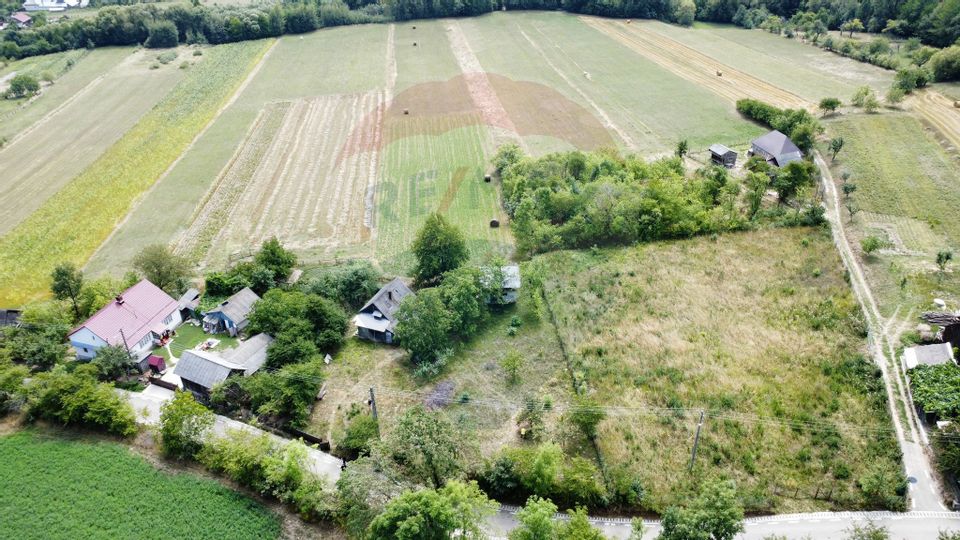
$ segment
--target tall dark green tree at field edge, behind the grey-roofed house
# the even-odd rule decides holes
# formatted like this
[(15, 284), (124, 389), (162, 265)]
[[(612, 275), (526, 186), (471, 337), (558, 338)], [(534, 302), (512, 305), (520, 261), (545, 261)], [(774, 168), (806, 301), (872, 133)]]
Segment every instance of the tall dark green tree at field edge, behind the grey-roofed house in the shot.
[(445, 272), (470, 258), (463, 233), (436, 212), (417, 232), (412, 249), (417, 258), (414, 277), (419, 285), (437, 283)]

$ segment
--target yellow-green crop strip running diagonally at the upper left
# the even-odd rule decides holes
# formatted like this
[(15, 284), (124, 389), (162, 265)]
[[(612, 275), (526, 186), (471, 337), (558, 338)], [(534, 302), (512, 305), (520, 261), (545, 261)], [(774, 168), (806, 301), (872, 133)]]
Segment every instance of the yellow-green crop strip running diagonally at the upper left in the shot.
[[(82, 265), (213, 118), (269, 41), (214, 47), (150, 113), (79, 177), (0, 239), (0, 303), (44, 294), (63, 261)], [(41, 277), (43, 276), (43, 277)]]

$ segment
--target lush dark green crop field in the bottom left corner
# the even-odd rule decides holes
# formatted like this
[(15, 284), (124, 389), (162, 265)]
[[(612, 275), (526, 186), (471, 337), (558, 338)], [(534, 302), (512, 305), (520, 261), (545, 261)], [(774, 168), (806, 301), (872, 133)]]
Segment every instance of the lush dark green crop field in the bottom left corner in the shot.
[(277, 538), (265, 507), (218, 482), (155, 469), (111, 442), (0, 437), (0, 536)]

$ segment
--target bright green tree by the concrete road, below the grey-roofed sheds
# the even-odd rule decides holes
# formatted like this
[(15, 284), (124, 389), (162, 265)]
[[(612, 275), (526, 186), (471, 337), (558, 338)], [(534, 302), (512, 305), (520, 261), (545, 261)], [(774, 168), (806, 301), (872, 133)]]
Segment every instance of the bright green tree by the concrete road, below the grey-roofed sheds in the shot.
[(178, 391), (160, 406), (160, 447), (167, 456), (192, 458), (203, 448), (203, 435), (213, 426), (213, 413), (193, 399), (190, 392)]

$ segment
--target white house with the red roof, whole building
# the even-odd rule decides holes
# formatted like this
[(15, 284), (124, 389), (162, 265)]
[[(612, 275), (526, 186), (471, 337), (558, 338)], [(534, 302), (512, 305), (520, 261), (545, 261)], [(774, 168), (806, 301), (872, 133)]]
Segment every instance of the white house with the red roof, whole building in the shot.
[(177, 301), (147, 280), (123, 291), (70, 332), (77, 358), (89, 360), (107, 345), (125, 347), (141, 371), (153, 347), (183, 320)]

